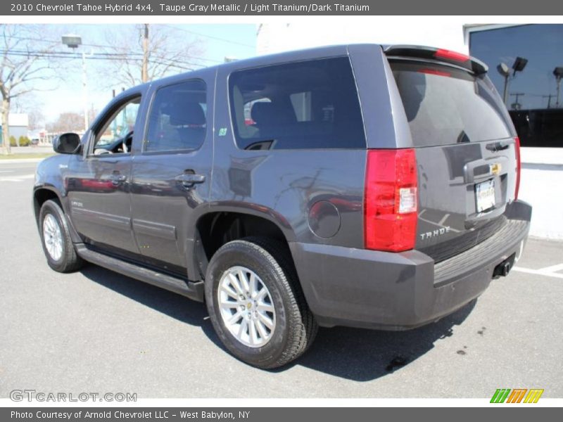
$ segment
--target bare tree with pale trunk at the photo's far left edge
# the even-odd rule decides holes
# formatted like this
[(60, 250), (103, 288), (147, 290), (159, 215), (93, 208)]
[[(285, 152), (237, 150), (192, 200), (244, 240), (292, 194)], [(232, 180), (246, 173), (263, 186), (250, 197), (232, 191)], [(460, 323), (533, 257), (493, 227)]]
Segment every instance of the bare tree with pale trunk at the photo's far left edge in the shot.
[(35, 25), (0, 25), (0, 93), (2, 95), (3, 153), (10, 154), (8, 116), (12, 101), (37, 89), (34, 84), (53, 75), (51, 58), (56, 44), (42, 43), (44, 30)]

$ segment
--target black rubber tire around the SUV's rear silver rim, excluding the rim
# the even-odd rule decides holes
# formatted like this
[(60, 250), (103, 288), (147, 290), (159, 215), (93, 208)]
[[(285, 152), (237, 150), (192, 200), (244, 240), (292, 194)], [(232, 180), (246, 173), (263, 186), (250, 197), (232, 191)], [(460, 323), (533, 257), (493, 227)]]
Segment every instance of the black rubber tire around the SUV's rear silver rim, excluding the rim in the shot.
[[(248, 347), (225, 326), (217, 289), (227, 269), (242, 266), (257, 274), (269, 290), (275, 309), (275, 328), (262, 347)], [(227, 349), (241, 361), (274, 369), (297, 359), (317, 334), (317, 323), (305, 302), (286, 245), (270, 238), (249, 237), (223, 245), (213, 255), (205, 276), (205, 302), (213, 328)]]

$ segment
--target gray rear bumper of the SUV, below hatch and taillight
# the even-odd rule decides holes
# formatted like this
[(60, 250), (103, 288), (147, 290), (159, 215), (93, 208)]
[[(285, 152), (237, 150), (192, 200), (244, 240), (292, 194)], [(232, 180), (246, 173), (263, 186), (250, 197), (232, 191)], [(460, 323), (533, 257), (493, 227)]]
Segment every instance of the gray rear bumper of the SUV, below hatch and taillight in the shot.
[(434, 264), (417, 250), (391, 253), (290, 243), (308, 305), (321, 326), (405, 330), (437, 321), (483, 293), (493, 270), (521, 255), (531, 206), (507, 206), (498, 233)]

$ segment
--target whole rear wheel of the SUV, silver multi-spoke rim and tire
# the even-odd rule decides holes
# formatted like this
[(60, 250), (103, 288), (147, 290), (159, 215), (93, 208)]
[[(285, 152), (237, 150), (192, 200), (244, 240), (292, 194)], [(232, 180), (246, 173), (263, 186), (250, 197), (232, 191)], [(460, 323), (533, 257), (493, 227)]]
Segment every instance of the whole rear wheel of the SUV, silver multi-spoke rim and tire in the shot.
[(262, 369), (298, 358), (317, 333), (289, 251), (270, 238), (245, 238), (217, 250), (205, 277), (205, 302), (225, 347)]

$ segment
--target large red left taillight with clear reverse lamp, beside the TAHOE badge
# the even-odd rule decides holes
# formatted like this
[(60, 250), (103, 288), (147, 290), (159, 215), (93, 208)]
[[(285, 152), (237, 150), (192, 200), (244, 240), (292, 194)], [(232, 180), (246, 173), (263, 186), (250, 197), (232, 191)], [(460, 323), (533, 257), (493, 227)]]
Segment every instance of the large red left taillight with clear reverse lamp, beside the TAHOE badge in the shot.
[(367, 151), (365, 248), (391, 252), (414, 248), (417, 199), (415, 150)]

